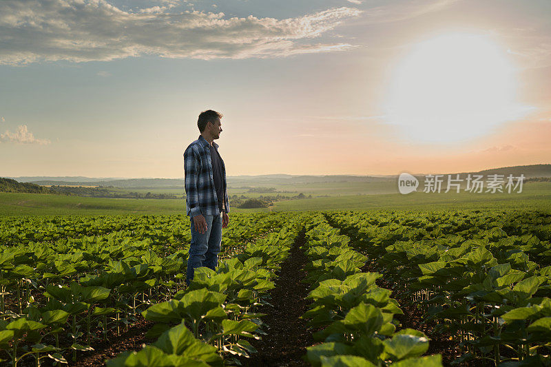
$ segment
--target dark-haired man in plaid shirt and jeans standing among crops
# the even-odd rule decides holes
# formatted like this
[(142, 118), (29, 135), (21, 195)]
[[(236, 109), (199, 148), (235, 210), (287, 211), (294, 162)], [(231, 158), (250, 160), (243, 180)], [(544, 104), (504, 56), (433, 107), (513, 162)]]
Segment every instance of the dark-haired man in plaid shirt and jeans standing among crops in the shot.
[(186, 211), (191, 219), (191, 245), (186, 282), (200, 266), (215, 269), (222, 241), (222, 228), (229, 223), (226, 168), (218, 154), (222, 114), (209, 109), (201, 112), (197, 126), (199, 138), (185, 149), (184, 172)]

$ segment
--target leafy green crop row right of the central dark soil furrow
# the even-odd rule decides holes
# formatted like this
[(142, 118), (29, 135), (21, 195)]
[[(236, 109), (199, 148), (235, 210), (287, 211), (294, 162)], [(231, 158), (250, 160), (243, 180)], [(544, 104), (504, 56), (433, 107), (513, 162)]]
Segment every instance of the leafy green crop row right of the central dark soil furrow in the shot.
[(366, 257), (349, 246), (322, 214), (311, 218), (304, 251), (311, 284), (311, 308), (302, 317), (322, 342), (307, 348), (313, 366), (441, 366), (440, 355), (420, 357), (428, 350), (424, 333), (397, 331), (394, 315), (402, 310), (391, 291), (375, 284), (379, 273), (365, 273)]

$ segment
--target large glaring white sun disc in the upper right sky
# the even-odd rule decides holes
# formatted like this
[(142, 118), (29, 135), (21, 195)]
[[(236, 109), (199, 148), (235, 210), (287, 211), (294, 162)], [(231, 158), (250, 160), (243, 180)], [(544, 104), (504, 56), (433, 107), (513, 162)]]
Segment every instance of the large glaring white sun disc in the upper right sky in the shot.
[(417, 43), (399, 63), (384, 114), (415, 142), (466, 141), (524, 116), (515, 94), (514, 67), (495, 43), (444, 34)]

